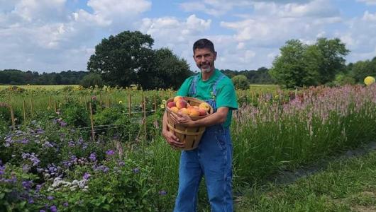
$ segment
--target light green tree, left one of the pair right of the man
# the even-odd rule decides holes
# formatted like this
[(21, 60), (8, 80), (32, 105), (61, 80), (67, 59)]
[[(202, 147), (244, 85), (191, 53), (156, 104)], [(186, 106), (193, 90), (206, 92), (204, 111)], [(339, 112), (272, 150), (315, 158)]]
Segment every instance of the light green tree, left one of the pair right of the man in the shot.
[(319, 75), (319, 52), (316, 47), (299, 40), (289, 40), (280, 48), (281, 55), (273, 61), (269, 73), (277, 83), (294, 86), (315, 86)]

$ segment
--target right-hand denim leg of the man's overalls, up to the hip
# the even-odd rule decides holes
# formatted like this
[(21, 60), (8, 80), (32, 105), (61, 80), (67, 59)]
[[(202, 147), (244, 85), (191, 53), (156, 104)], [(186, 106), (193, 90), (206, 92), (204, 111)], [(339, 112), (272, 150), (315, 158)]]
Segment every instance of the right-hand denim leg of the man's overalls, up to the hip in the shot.
[[(202, 143), (201, 143), (202, 142)], [(211, 211), (233, 211), (232, 143), (230, 131), (211, 127), (201, 140), (199, 160), (204, 170)]]

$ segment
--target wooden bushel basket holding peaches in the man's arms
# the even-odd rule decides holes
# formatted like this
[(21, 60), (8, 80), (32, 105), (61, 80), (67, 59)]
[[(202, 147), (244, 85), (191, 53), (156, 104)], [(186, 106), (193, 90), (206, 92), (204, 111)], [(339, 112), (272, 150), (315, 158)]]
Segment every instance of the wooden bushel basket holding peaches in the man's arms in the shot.
[[(184, 100), (186, 100), (189, 105), (191, 106), (199, 106), (203, 100), (199, 100), (197, 98), (189, 98), (189, 97), (183, 97)], [(204, 134), (205, 126), (182, 126), (178, 125), (175, 122), (172, 122), (171, 119), (171, 113), (173, 112), (170, 110), (170, 108), (167, 107), (168, 102), (173, 102), (174, 98), (170, 98), (167, 100), (165, 108), (167, 112), (167, 126), (170, 129), (170, 131), (173, 131), (175, 136), (179, 138), (179, 141), (184, 143), (184, 148), (181, 148), (183, 150), (189, 151), (193, 150), (194, 148), (197, 148), (199, 146), (199, 142), (201, 140), (202, 134)], [(209, 114), (205, 116), (199, 116), (199, 117), (191, 117), (192, 120), (202, 119), (204, 117), (209, 116), (214, 112), (213, 107), (210, 107)]]

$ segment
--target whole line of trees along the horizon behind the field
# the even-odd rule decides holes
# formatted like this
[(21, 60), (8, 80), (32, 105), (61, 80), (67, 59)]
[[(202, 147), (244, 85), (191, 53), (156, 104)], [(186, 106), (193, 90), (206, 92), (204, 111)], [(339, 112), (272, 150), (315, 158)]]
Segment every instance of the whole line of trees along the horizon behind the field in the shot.
[[(7, 69), (0, 71), (0, 84), (89, 86), (122, 86), (137, 84), (145, 90), (177, 89), (185, 78), (195, 74), (185, 59), (167, 48), (153, 49), (150, 35), (124, 31), (104, 38), (96, 45), (87, 62), (88, 71), (42, 73)], [(272, 67), (257, 70), (221, 70), (233, 79), (237, 88), (252, 84), (277, 83), (286, 88), (302, 86), (338, 86), (361, 83), (365, 76), (376, 76), (376, 57), (372, 60), (345, 64), (350, 51), (340, 39), (316, 40), (307, 45), (300, 40), (288, 40)]]

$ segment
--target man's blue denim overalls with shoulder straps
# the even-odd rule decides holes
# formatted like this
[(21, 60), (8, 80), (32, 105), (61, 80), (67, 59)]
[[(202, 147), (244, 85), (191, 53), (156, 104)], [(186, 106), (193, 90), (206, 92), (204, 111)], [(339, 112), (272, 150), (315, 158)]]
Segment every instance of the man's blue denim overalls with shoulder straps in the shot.
[[(223, 74), (213, 84), (213, 95)], [(196, 94), (198, 77), (194, 76), (189, 96)], [(216, 100), (206, 100), (216, 112)], [(192, 151), (182, 151), (179, 165), (179, 191), (175, 212), (197, 211), (197, 193), (204, 176), (211, 211), (233, 211), (231, 190), (232, 143), (230, 131), (223, 124), (206, 127), (199, 146)]]

